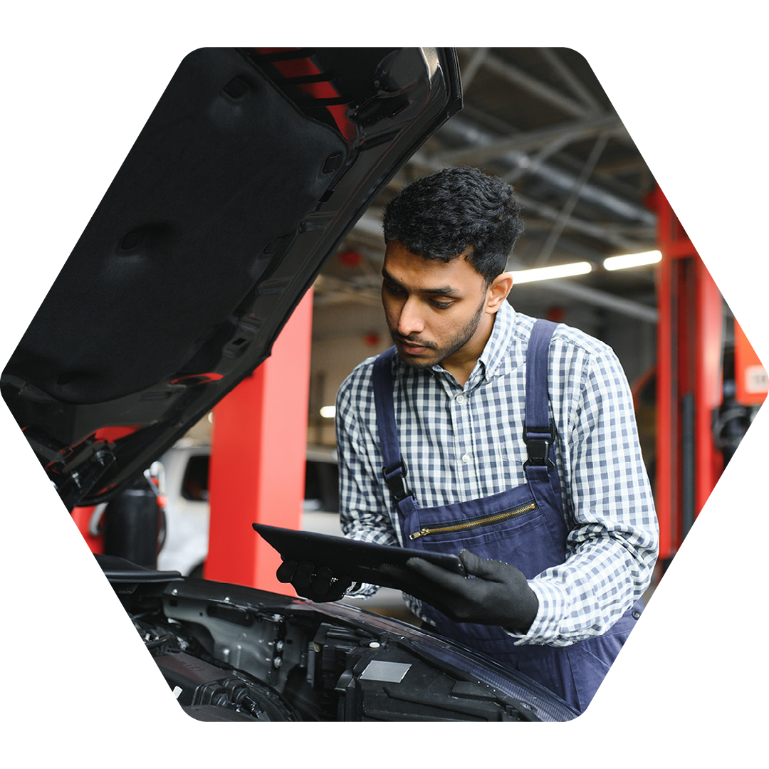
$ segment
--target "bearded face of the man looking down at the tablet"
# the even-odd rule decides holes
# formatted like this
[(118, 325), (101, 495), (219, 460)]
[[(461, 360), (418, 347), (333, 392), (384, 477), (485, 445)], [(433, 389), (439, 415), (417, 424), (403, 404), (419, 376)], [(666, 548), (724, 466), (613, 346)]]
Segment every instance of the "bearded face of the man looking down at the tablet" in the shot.
[(398, 355), (428, 368), (478, 359), (491, 333), (484, 278), (464, 257), (444, 262), (391, 241), (382, 268), (384, 315)]

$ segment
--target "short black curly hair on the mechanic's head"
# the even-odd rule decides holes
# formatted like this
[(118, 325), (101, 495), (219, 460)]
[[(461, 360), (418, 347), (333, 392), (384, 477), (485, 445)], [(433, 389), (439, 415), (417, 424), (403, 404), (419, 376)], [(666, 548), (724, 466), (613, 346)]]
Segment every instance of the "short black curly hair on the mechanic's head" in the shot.
[(449, 261), (468, 261), (491, 284), (524, 229), (513, 188), (478, 168), (444, 168), (404, 187), (384, 209), (384, 241)]

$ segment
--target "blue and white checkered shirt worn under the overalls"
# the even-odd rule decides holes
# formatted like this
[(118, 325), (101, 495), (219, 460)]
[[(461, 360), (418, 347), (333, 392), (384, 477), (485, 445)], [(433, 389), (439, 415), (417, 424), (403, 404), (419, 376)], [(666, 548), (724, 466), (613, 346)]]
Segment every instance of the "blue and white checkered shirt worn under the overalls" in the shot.
[[(401, 454), (422, 508), (526, 483), (525, 358), (533, 325), (505, 302), (464, 388), (440, 365), (418, 369), (394, 356)], [(337, 396), (341, 527), (353, 539), (402, 546), (381, 472), (374, 360), (358, 365)], [(517, 644), (568, 646), (603, 634), (643, 594), (657, 560), (658, 527), (631, 392), (614, 351), (559, 325), (549, 391), (567, 560), (528, 581), (539, 610), (528, 633), (511, 636)], [(366, 586), (362, 594), (373, 591)], [(405, 598), (420, 616), (419, 602)]]

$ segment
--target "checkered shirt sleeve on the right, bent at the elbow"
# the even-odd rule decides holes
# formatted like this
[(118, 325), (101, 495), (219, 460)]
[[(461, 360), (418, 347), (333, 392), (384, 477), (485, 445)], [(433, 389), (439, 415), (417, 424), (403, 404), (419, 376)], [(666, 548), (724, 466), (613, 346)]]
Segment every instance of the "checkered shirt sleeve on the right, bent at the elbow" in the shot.
[(644, 593), (657, 561), (654, 499), (621, 364), (608, 347), (575, 347), (562, 360), (571, 374), (559, 424), (568, 557), (529, 580), (539, 609), (528, 633), (511, 633), (517, 644), (568, 646), (604, 634)]

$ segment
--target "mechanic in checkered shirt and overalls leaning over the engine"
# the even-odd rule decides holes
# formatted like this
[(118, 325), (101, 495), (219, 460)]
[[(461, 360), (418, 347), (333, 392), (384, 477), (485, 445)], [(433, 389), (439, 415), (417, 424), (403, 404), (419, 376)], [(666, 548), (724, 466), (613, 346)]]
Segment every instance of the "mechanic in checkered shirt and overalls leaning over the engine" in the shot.
[[(414, 549), (388, 577), (424, 623), (581, 709), (638, 628), (657, 519), (614, 352), (508, 303), (522, 229), (510, 185), (474, 168), (388, 204), (394, 348), (338, 393), (341, 525)], [(459, 553), (472, 578), (422, 550)], [(287, 562), (278, 578), (316, 601), (377, 589), (315, 564)]]

